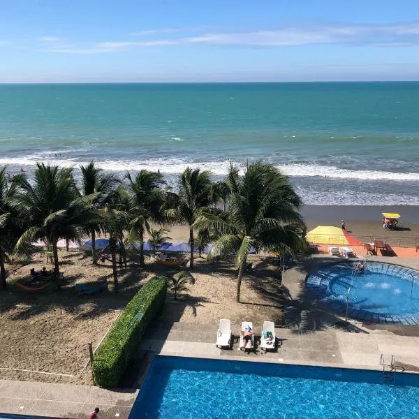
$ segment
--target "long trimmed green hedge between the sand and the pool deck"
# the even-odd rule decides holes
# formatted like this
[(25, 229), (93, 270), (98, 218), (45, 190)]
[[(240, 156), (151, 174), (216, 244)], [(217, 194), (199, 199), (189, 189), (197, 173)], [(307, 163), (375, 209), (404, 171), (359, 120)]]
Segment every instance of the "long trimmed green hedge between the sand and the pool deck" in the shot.
[[(165, 277), (154, 277), (128, 302), (94, 357), (92, 371), (96, 385), (105, 388), (118, 385), (147, 325), (163, 307), (166, 288)], [(142, 313), (141, 318), (138, 313)]]

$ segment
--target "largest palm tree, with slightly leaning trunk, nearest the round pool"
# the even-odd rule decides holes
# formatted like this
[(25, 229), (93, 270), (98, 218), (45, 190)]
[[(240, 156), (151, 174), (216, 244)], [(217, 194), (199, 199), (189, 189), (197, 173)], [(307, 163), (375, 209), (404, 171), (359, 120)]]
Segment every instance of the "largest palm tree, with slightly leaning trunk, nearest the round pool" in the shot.
[(286, 251), (295, 256), (305, 248), (305, 225), (297, 212), (301, 200), (288, 177), (274, 166), (260, 161), (251, 164), (240, 177), (231, 167), (226, 179), (231, 191), (227, 219), (205, 213), (196, 228), (215, 228), (221, 237), (214, 243), (208, 259), (235, 255), (237, 269), (236, 301), (247, 257), (256, 251)]

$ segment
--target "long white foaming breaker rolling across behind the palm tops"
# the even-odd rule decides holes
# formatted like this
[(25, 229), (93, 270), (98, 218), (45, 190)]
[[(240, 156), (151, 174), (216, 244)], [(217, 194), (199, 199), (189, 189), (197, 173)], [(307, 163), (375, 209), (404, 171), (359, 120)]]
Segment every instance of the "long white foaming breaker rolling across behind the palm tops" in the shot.
[[(68, 150), (61, 150), (61, 153)], [(49, 156), (57, 152), (44, 152), (33, 156), (0, 158), (0, 165), (3, 166), (35, 166), (37, 161), (45, 161), (57, 166), (71, 167), (85, 165), (89, 161), (81, 161), (73, 156)], [(58, 158), (57, 158), (58, 157)], [(244, 163), (232, 161), (233, 165), (244, 170)], [(209, 170), (214, 175), (226, 175), (230, 167), (230, 160), (223, 161), (189, 161), (187, 159), (145, 159), (145, 160), (96, 160), (96, 164), (104, 170), (125, 172), (126, 170), (151, 171), (160, 170), (162, 173), (181, 173), (186, 167)], [(358, 180), (395, 180), (395, 181), (419, 181), (418, 172), (390, 172), (381, 170), (348, 170), (336, 166), (316, 165), (312, 163), (289, 163), (277, 166), (290, 177), (325, 177), (330, 179), (358, 179)]]

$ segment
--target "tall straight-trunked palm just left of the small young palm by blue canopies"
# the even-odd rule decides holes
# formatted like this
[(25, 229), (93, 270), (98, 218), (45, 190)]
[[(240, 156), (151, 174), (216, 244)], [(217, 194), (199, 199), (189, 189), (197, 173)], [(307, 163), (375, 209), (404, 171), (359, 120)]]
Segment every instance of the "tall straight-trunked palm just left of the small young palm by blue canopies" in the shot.
[(166, 182), (160, 172), (140, 170), (132, 177), (128, 172), (128, 193), (130, 205), (128, 212), (127, 240), (132, 244), (140, 242), (140, 265), (144, 260), (144, 234), (150, 233), (150, 222), (163, 222), (163, 205), (166, 197)]

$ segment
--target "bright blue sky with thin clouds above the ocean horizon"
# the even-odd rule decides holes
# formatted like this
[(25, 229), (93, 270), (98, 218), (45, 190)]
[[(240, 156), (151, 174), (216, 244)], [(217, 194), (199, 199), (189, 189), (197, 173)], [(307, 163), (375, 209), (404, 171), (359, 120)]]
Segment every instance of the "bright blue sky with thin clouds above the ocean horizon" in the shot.
[(0, 0), (0, 82), (311, 80), (419, 80), (419, 1)]

